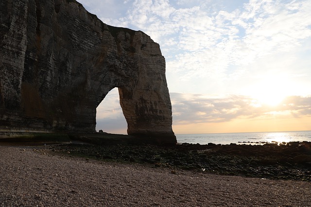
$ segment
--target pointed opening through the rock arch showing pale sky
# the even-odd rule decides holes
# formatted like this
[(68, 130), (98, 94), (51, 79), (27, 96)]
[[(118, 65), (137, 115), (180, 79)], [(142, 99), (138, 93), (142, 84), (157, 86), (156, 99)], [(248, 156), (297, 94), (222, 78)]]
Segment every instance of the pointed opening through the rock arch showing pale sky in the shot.
[(118, 88), (113, 88), (96, 108), (96, 131), (127, 134), (127, 122), (120, 105)]

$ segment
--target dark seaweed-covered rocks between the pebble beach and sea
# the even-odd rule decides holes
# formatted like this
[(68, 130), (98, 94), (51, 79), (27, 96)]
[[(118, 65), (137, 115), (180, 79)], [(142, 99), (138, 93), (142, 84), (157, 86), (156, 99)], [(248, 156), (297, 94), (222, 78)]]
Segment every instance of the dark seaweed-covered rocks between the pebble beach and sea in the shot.
[[(62, 153), (112, 162), (138, 162), (152, 167), (191, 170), (218, 175), (311, 181), (311, 142), (286, 144), (65, 144), (50, 146)], [(52, 152), (53, 151), (53, 152)]]

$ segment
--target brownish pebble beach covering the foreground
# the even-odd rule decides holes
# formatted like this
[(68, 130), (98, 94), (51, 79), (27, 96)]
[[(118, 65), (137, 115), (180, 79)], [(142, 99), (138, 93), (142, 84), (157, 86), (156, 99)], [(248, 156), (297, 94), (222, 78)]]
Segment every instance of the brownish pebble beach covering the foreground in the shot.
[(0, 146), (1, 207), (311, 206), (311, 182), (212, 175)]

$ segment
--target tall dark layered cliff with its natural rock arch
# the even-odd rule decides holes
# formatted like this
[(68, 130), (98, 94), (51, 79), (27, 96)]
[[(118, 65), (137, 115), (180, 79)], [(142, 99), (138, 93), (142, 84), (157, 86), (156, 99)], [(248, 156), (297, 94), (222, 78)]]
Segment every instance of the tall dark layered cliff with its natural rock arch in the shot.
[(118, 87), (128, 134), (176, 142), (159, 45), (75, 0), (0, 1), (0, 130), (95, 132)]

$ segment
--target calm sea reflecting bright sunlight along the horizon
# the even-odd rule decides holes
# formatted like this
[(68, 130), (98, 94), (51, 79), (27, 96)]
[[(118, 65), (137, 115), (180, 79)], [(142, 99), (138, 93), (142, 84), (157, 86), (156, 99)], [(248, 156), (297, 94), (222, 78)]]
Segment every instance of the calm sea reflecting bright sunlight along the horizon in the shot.
[(243, 132), (214, 134), (175, 134), (177, 143), (199, 144), (264, 144), (311, 142), (311, 131)]

